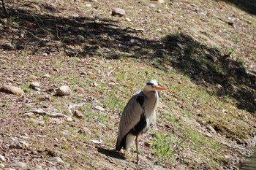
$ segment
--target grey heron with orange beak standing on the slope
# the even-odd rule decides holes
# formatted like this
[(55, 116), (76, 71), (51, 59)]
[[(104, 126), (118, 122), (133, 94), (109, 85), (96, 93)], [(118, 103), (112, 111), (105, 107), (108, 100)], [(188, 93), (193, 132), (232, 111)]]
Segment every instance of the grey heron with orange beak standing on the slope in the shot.
[(138, 136), (145, 133), (148, 126), (156, 121), (156, 109), (159, 100), (157, 91), (160, 90), (167, 90), (167, 88), (159, 86), (157, 80), (147, 82), (143, 90), (135, 93), (129, 99), (121, 115), (116, 150), (119, 151), (122, 148), (128, 150), (135, 141), (137, 163), (139, 163)]

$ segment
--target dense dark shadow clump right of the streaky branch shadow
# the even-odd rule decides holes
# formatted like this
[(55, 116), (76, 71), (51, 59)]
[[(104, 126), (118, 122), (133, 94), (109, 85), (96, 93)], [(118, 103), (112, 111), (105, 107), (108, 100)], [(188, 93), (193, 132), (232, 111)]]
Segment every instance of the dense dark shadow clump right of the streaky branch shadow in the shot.
[(256, 77), (246, 72), (242, 62), (184, 34), (166, 36), (164, 42), (170, 53), (167, 60), (173, 68), (188, 75), (197, 85), (212, 87), (209, 93), (235, 98), (239, 109), (255, 113)]

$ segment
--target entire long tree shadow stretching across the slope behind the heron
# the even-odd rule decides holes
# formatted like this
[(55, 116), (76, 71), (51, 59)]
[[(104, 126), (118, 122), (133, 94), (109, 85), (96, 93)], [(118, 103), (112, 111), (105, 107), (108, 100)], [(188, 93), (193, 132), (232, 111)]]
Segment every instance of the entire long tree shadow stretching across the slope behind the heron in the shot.
[(38, 4), (45, 14), (23, 9), (23, 4), (16, 6), (9, 9), (11, 16), (0, 28), (0, 39), (13, 44), (1, 45), (4, 50), (25, 50), (37, 55), (65, 52), (78, 57), (138, 58), (165, 71), (172, 66), (197, 85), (206, 89), (210, 86), (209, 93), (235, 98), (239, 109), (256, 111), (255, 75), (247, 73), (243, 63), (234, 61), (230, 55), (222, 55), (191, 36), (170, 34), (159, 40), (142, 39), (142, 30), (122, 28), (111, 19), (57, 17), (54, 12), (59, 10), (47, 4)]

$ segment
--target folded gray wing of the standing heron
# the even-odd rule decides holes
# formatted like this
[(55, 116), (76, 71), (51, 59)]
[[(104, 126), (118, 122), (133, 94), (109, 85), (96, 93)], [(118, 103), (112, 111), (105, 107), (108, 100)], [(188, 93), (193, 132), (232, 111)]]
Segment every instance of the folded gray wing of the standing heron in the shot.
[(119, 123), (118, 145), (121, 143), (124, 136), (126, 136), (129, 131), (140, 121), (140, 117), (143, 114), (144, 100), (145, 96), (143, 93), (137, 93), (135, 96), (132, 96), (126, 107), (124, 107), (124, 111), (121, 115), (121, 120)]

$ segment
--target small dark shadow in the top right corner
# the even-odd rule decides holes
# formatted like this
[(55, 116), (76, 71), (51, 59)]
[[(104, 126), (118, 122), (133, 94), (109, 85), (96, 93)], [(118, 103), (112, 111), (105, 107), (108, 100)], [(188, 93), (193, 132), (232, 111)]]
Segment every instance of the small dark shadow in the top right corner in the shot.
[(236, 7), (239, 7), (240, 9), (250, 14), (256, 15), (256, 0), (221, 0), (221, 1), (235, 4)]

